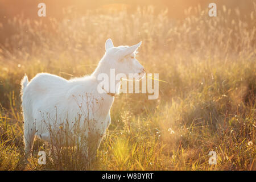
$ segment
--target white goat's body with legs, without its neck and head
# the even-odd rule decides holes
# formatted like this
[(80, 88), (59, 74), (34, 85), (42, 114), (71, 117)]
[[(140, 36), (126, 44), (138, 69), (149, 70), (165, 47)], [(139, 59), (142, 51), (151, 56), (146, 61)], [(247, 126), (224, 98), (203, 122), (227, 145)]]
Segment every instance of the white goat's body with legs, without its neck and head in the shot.
[[(49, 127), (56, 128), (66, 121), (72, 125), (75, 119), (86, 120), (101, 136), (110, 124), (110, 107), (114, 97), (99, 94), (96, 78), (92, 76), (65, 80), (40, 73), (28, 84), (24, 83), (22, 92), (26, 152), (31, 150), (35, 135), (51, 142)], [(97, 106), (96, 99), (102, 101), (101, 105)], [(85, 124), (81, 122), (80, 125), (86, 127)]]

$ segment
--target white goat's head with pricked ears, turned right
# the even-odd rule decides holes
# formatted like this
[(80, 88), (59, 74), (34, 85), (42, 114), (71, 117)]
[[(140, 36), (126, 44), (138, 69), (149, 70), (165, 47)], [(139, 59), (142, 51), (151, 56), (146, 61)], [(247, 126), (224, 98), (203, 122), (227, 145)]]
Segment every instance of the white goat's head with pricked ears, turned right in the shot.
[(133, 74), (137, 75), (136, 78), (141, 79), (145, 75), (145, 71), (139, 61), (135, 59), (141, 43), (134, 46), (114, 47), (111, 39), (106, 40), (105, 64), (108, 64), (109, 68), (115, 69), (115, 74), (121, 73), (127, 78), (130, 78), (129, 74)]

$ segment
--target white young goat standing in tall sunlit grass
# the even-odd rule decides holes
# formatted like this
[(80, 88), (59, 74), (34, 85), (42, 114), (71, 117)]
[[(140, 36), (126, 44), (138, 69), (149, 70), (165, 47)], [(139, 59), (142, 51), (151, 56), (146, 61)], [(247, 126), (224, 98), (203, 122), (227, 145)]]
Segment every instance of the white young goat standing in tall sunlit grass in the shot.
[[(105, 55), (90, 76), (65, 80), (49, 73), (39, 73), (28, 82), (25, 75), (21, 82), (21, 94), (26, 155), (32, 150), (35, 135), (51, 142), (49, 127), (57, 129), (56, 123), (61, 126), (64, 121), (69, 121), (70, 124), (77, 118), (93, 124), (94, 130), (91, 131), (101, 136), (96, 141), (97, 150), (110, 124), (110, 108), (114, 101), (114, 94), (111, 94), (110, 90), (104, 89), (104, 93), (98, 92), (97, 78), (101, 73), (110, 77), (110, 69), (114, 69), (116, 74), (124, 73), (126, 76), (129, 73), (138, 73), (139, 78), (142, 78), (145, 75), (144, 68), (135, 59), (135, 52), (139, 46), (141, 42), (131, 47), (114, 47), (111, 39), (106, 40)], [(115, 85), (119, 83), (120, 80), (115, 81)], [(118, 92), (119, 90), (115, 90), (115, 93)], [(85, 94), (93, 96), (94, 101), (101, 100), (101, 105), (97, 105), (88, 97), (82, 97)], [(86, 136), (91, 132), (88, 130), (90, 126), (86, 126), (85, 122), (81, 122), (80, 127), (87, 128)], [(86, 148), (85, 151), (88, 152), (88, 149)]]

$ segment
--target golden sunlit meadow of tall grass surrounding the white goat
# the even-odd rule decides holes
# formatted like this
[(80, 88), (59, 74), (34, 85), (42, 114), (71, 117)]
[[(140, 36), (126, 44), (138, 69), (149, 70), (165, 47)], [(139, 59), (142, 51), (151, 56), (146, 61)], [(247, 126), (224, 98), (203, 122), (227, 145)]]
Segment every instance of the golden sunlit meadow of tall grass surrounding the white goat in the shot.
[[(66, 9), (63, 19), (48, 23), (23, 16), (0, 23), (12, 30), (0, 47), (1, 170), (256, 170), (256, 5), (246, 14), (221, 6), (213, 18), (208, 9), (191, 7), (183, 20), (154, 9), (97, 9), (85, 15)], [(19, 96), (24, 73), (29, 79), (39, 72), (88, 75), (108, 38), (116, 46), (142, 40), (137, 59), (164, 81), (158, 100), (117, 96), (112, 123), (89, 166), (70, 150), (59, 161), (47, 156), (47, 164), (39, 165), (38, 152), (48, 152), (40, 139), (24, 162)], [(208, 163), (209, 151), (217, 152), (216, 165)]]

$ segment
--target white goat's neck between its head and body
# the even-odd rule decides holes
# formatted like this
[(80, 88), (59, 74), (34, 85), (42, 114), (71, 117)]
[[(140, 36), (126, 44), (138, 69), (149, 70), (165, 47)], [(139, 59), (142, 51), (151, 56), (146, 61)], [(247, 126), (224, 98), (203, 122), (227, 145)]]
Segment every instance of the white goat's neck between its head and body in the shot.
[[(106, 68), (106, 67), (104, 67), (104, 65), (99, 63), (97, 68), (95, 69), (95, 71), (92, 73), (92, 76), (94, 78), (96, 78), (97, 82), (101, 82), (102, 77), (101, 76), (99, 77), (99, 75), (101, 73), (108, 75), (108, 79), (109, 79), (108, 84), (109, 84), (109, 86), (108, 86), (108, 88), (104, 88), (104, 90), (108, 93), (113, 93), (113, 90), (110, 90), (110, 88), (111, 88), (110, 86), (111, 86), (111, 83), (113, 84), (113, 82), (114, 82), (114, 86), (117, 85), (117, 86), (115, 86), (114, 93), (118, 94), (119, 90), (120, 90), (121, 80), (115, 80), (115, 75), (113, 75), (113, 74), (111, 75), (110, 70), (111, 69), (109, 67)], [(98, 80), (98, 77), (99, 77), (100, 80)]]

